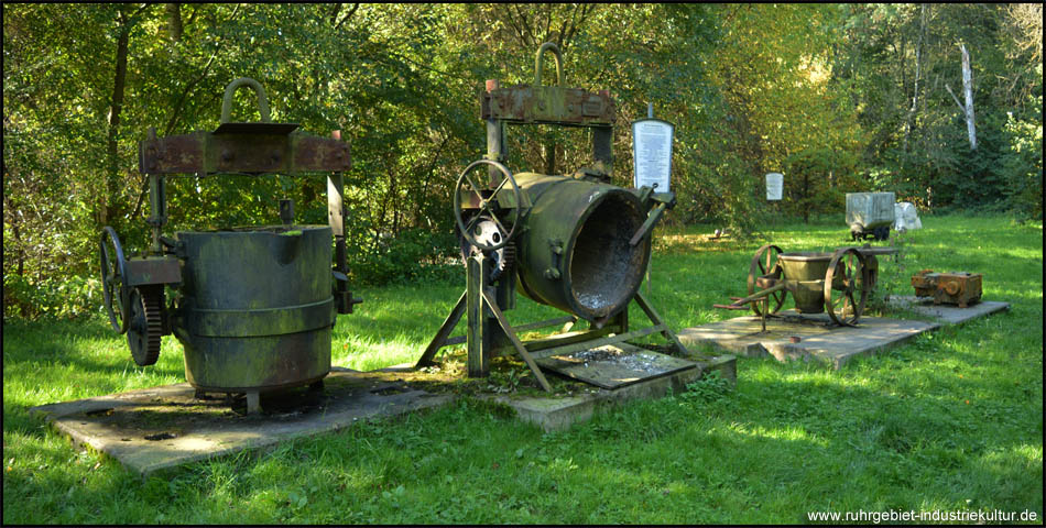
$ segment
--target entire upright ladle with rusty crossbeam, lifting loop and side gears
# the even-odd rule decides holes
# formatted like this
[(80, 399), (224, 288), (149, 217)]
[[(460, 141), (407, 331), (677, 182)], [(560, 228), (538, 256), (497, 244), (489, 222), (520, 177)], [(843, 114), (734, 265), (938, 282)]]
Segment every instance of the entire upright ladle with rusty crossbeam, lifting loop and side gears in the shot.
[[(254, 90), (260, 122), (230, 120), (240, 87)], [(139, 144), (152, 244), (131, 256), (111, 227), (99, 240), (109, 321), (127, 333), (134, 362), (154, 364), (162, 337), (173, 333), (184, 345), (185, 377), (197, 397), (243, 394), (248, 413), (260, 410), (262, 392), (322, 388), (336, 316), (361, 302), (346, 275), (342, 172), (350, 168), (349, 145), (340, 131), (317, 138), (296, 129), (271, 122), (261, 84), (233, 80), (215, 131), (156, 138), (150, 129)], [(293, 202), (280, 200), (282, 226), (163, 233), (170, 176), (317, 173), (326, 174), (328, 226), (295, 224)]]

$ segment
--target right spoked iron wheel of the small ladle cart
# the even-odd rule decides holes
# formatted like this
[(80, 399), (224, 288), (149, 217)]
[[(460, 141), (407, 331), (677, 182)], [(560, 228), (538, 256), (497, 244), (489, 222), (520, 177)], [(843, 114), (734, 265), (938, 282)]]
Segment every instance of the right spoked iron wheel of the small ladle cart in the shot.
[(869, 286), (864, 255), (856, 248), (836, 251), (825, 276), (825, 308), (828, 317), (836, 324), (856, 326), (864, 311)]

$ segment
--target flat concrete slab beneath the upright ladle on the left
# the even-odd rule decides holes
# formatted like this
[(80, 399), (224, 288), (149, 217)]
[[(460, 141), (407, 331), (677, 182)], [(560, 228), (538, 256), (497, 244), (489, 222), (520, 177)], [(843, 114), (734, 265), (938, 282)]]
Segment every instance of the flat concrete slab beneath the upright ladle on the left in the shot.
[[(78, 444), (119, 460), (142, 476), (188, 462), (336, 431), (378, 416), (450, 402), (399, 382), (393, 373), (335, 367), (323, 393), (262, 395), (261, 415), (242, 415), (222, 397), (196, 399), (188, 383), (30, 409)], [(242, 407), (243, 404), (240, 404)]]

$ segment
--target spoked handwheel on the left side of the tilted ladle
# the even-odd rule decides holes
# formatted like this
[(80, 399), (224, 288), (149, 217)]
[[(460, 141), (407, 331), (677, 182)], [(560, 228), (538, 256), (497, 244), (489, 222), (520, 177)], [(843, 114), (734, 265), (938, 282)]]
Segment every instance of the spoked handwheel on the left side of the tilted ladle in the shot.
[[(489, 188), (489, 186), (477, 185), (476, 179), (469, 176), (469, 173), (480, 165), (490, 165), (501, 172), (501, 183), (492, 189)], [(458, 223), (458, 231), (460, 231), (461, 237), (464, 237), (469, 244), (484, 252), (504, 248), (512, 237), (515, 235), (516, 226), (520, 223), (516, 219), (516, 221), (512, 222), (511, 229), (505, 229), (502, 219), (499, 218), (499, 212), (501, 212), (499, 209), (502, 207), (500, 200), (501, 196), (499, 195), (505, 193), (505, 184), (510, 184), (512, 188), (513, 204), (519, 212), (520, 206), (523, 202), (523, 194), (520, 191), (520, 186), (516, 185), (515, 178), (512, 177), (512, 173), (498, 162), (491, 160), (477, 160), (472, 162), (461, 172), (461, 176), (458, 177), (458, 183), (454, 188), (454, 219)], [(462, 195), (468, 197), (469, 204), (461, 202)], [(469, 217), (468, 221), (466, 221), (462, 216), (462, 211), (466, 210), (475, 210), (475, 213)], [(477, 228), (480, 227), (483, 220), (493, 222), (500, 233), (495, 233), (497, 237), (494, 237), (487, 233), (486, 229), (481, 230), (481, 232), (477, 232)]]

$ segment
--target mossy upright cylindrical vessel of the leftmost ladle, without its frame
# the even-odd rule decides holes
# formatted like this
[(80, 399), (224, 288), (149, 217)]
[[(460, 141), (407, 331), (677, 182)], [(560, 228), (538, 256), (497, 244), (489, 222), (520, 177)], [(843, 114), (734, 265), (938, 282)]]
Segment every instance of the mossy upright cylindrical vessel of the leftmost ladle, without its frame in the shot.
[(264, 391), (330, 372), (329, 227), (176, 235), (185, 248), (184, 297), (173, 329), (194, 387)]

